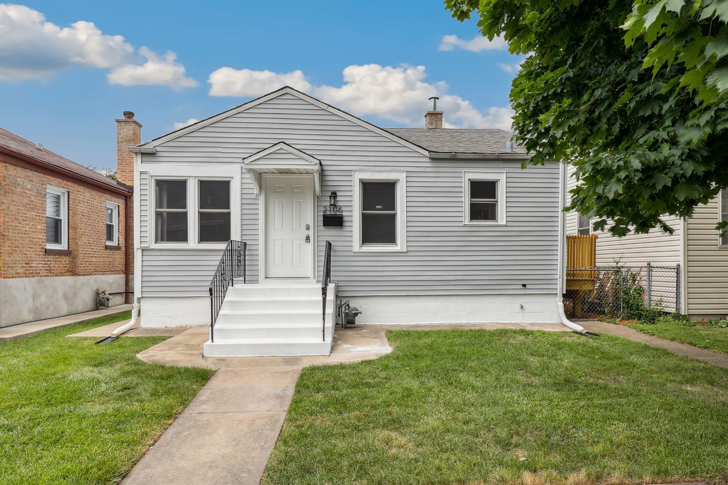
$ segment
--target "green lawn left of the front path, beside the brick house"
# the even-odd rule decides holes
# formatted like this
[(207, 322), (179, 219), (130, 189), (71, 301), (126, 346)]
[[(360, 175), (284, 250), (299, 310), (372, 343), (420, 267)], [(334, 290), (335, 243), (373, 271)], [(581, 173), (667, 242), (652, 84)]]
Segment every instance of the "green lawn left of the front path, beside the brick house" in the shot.
[(64, 338), (127, 318), (0, 343), (0, 484), (116, 483), (205, 385), (135, 357), (167, 337)]

